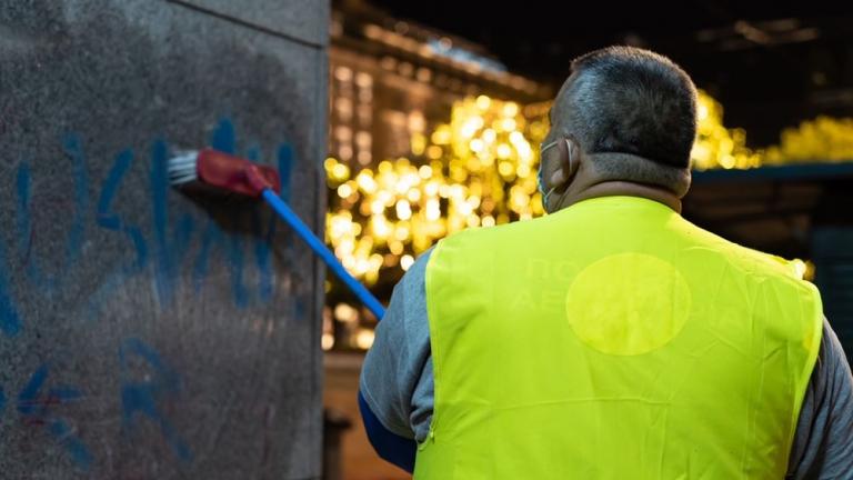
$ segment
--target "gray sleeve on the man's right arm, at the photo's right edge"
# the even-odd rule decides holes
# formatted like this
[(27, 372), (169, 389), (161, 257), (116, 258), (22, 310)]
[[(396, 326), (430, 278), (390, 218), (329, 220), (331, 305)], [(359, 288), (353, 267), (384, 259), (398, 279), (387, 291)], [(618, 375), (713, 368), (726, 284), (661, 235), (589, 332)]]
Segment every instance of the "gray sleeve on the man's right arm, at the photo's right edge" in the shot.
[(853, 479), (853, 377), (839, 338), (825, 319), (787, 478)]

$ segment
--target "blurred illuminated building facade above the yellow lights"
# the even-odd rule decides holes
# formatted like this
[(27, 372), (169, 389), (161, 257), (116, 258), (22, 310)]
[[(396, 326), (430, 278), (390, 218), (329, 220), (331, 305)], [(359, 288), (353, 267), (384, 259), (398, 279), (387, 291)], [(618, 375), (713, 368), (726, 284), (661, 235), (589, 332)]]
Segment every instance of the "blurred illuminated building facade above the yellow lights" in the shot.
[(329, 154), (354, 170), (409, 157), (412, 134), (446, 121), (464, 96), (530, 103), (552, 93), (480, 46), (361, 2), (333, 11), (331, 36)]

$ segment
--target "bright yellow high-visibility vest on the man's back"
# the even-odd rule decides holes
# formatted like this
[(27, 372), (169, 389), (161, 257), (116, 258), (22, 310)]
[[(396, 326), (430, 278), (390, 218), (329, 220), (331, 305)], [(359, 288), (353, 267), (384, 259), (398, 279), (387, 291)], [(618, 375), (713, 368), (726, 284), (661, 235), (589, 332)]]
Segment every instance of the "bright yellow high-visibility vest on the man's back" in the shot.
[(820, 348), (794, 264), (634, 197), (442, 240), (418, 480), (782, 479)]

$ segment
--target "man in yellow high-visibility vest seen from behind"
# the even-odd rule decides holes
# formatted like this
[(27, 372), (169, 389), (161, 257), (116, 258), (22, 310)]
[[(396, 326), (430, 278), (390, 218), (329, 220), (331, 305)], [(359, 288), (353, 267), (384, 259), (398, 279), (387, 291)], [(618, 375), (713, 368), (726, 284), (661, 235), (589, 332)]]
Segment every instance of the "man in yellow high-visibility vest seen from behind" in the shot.
[(853, 379), (789, 262), (680, 216), (695, 87), (655, 53), (572, 63), (541, 219), (409, 270), (360, 383), (418, 479), (853, 478)]

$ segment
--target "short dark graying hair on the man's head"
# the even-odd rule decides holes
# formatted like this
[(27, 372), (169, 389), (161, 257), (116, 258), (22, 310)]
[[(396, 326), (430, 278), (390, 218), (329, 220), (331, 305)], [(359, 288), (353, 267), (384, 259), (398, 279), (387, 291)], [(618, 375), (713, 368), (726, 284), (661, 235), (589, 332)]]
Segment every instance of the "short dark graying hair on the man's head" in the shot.
[(555, 113), (554, 123), (588, 153), (626, 153), (690, 168), (696, 88), (663, 56), (610, 47), (575, 59)]

